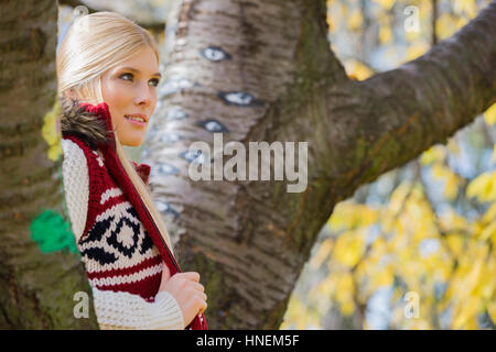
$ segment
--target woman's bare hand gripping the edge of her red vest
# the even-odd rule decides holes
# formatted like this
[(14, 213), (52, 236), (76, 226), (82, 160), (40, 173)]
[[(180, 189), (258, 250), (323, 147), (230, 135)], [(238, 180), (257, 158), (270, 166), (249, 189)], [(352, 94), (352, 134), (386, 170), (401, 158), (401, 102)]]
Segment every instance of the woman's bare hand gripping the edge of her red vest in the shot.
[(171, 277), (169, 267), (163, 264), (159, 287), (159, 292), (161, 290), (170, 293), (175, 298), (183, 312), (185, 327), (207, 307), (205, 287), (200, 284), (200, 274), (196, 272), (176, 273)]

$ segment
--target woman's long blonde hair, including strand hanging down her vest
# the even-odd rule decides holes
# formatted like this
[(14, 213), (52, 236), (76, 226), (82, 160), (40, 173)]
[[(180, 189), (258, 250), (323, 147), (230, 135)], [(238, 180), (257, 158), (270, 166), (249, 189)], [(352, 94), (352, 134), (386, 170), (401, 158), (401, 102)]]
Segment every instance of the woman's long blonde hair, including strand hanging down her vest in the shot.
[[(72, 96), (91, 105), (104, 102), (101, 74), (147, 46), (153, 50), (157, 61), (160, 62), (154, 37), (123, 15), (103, 11), (77, 18), (68, 29), (56, 55), (58, 97)], [(165, 223), (147, 186), (125, 155), (117, 133), (114, 134), (120, 163), (173, 253)]]

